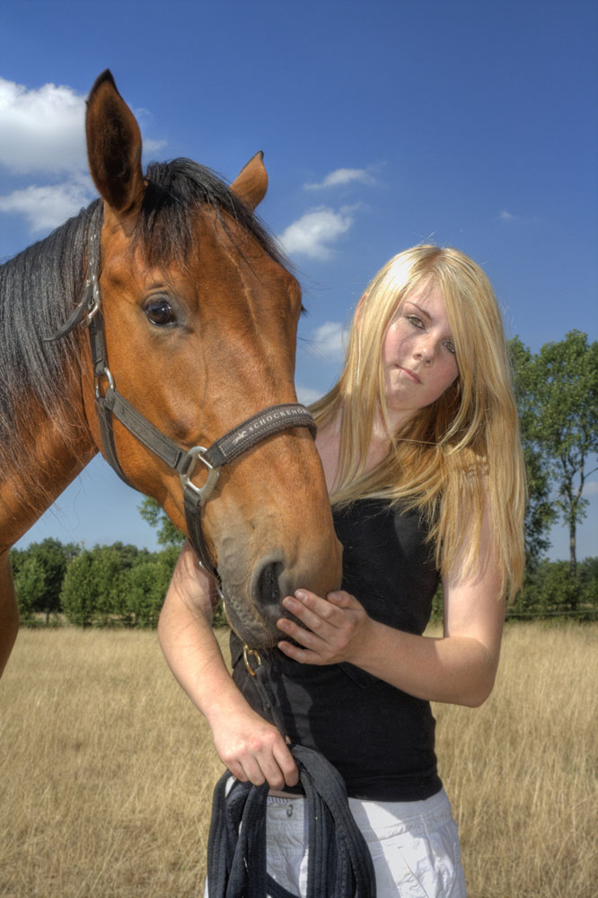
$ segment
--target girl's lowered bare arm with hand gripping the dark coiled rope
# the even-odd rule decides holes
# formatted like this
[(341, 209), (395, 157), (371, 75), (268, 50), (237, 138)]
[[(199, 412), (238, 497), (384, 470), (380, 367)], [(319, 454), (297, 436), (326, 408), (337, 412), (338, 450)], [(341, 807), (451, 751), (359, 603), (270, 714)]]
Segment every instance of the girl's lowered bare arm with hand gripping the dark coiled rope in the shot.
[(285, 740), (259, 717), (226, 669), (211, 621), (214, 582), (186, 542), (158, 622), (158, 638), (172, 673), (207, 718), (215, 748), (234, 777), (255, 786), (295, 786), (298, 773)]

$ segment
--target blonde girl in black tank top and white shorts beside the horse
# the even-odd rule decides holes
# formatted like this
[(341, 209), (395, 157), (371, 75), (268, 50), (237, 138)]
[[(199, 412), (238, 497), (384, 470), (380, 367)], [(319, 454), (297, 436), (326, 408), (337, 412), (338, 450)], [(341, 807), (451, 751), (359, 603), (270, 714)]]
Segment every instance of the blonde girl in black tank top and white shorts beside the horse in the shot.
[[(462, 898), (430, 702), (487, 699), (505, 597), (523, 571), (523, 458), (500, 314), (479, 266), (436, 246), (387, 262), (356, 308), (339, 382), (312, 413), (343, 584), (282, 602), (275, 654), (286, 731), (343, 776), (379, 898)], [(433, 638), (423, 633), (439, 581), (444, 634)], [(268, 781), (268, 871), (304, 894), (295, 762), (243, 665), (227, 673), (212, 594), (185, 547), (160, 621), (163, 651), (233, 776)], [(232, 653), (234, 662), (234, 636)]]

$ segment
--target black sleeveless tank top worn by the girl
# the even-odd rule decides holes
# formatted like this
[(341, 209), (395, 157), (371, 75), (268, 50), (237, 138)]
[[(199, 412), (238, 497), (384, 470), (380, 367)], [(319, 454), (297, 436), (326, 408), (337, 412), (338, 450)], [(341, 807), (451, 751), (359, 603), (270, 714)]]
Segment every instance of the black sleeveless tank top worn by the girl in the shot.
[[(420, 636), (430, 618), (438, 571), (418, 512), (361, 499), (333, 516), (344, 547), (342, 588), (375, 621)], [(234, 634), (231, 651), (234, 681), (263, 716), (252, 678), (239, 663), (242, 646)], [(268, 661), (287, 735), (328, 758), (350, 797), (416, 801), (442, 788), (429, 702), (354, 665), (301, 665), (277, 649)]]

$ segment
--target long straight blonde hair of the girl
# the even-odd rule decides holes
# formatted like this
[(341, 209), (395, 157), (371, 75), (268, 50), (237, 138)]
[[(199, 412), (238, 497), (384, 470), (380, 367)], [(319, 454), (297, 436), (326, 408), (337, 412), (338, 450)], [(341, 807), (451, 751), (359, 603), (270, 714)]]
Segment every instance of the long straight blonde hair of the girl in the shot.
[[(387, 428), (383, 340), (405, 299), (436, 286), (444, 297), (459, 376), (439, 399), (391, 434), (391, 450), (366, 470), (374, 419)], [(506, 340), (488, 277), (459, 250), (417, 246), (394, 256), (367, 286), (349, 332), (339, 382), (312, 405), (319, 425), (341, 419), (332, 504), (388, 499), (417, 507), (446, 573), (479, 557), (488, 503), (502, 591), (523, 577), (525, 474)], [(389, 430), (391, 433), (391, 430)], [(466, 534), (466, 535), (465, 535)]]

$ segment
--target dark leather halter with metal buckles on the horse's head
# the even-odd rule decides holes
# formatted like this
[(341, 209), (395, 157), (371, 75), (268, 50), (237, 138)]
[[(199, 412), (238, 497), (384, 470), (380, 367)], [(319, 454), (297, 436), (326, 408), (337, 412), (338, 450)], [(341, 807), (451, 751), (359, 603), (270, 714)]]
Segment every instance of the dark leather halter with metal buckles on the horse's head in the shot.
[[(285, 403), (272, 405), (257, 415), (252, 415), (233, 427), (224, 436), (210, 445), (193, 446), (184, 449), (174, 443), (169, 436), (148, 421), (125, 397), (118, 392), (114, 384), (114, 377), (108, 366), (108, 354), (104, 339), (103, 317), (101, 313), (101, 293), (99, 285), (101, 266), (101, 203), (93, 210), (90, 218), (87, 236), (87, 277), (84, 283), (83, 295), (75, 310), (57, 333), (44, 339), (56, 340), (66, 337), (75, 327), (89, 330), (90, 345), (92, 349), (92, 364), (95, 390), (95, 405), (101, 431), (101, 443), (104, 454), (110, 467), (114, 469), (121, 480), (128, 486), (128, 478), (120, 467), (116, 445), (112, 417), (118, 418), (120, 423), (127, 427), (128, 431), (145, 445), (154, 455), (162, 459), (173, 471), (177, 471), (180, 477), (180, 486), (183, 491), (183, 506), (189, 541), (193, 546), (198, 562), (207, 571), (214, 575), (220, 592), (220, 579), (218, 570), (209, 556), (206, 541), (201, 527), (201, 509), (206, 504), (215, 487), (220, 468), (229, 462), (233, 462), (242, 453), (247, 452), (262, 440), (289, 430), (294, 427), (307, 427), (312, 436), (316, 433), (316, 424), (309, 411), (299, 403)], [(196, 465), (201, 462), (207, 468), (207, 480), (203, 487), (197, 487), (191, 476)]]

